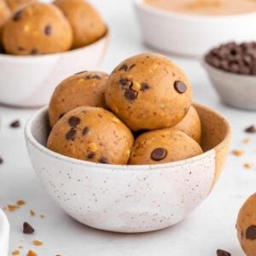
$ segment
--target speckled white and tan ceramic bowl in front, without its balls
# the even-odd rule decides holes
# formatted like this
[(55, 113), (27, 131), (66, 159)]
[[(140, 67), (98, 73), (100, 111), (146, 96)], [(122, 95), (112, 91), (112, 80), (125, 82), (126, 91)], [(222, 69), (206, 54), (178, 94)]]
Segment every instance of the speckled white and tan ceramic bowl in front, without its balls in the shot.
[(75, 160), (45, 147), (47, 108), (26, 124), (32, 166), (52, 198), (79, 222), (100, 230), (160, 230), (185, 218), (209, 195), (228, 153), (230, 125), (195, 104), (204, 154), (154, 166), (111, 166)]

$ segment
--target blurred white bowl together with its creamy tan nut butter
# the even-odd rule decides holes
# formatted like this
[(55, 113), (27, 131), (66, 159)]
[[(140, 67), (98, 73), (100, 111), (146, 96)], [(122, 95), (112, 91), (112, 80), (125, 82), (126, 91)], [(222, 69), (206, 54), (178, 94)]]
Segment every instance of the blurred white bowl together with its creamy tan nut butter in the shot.
[(255, 40), (256, 2), (252, 0), (134, 0), (149, 46), (198, 57), (230, 40)]

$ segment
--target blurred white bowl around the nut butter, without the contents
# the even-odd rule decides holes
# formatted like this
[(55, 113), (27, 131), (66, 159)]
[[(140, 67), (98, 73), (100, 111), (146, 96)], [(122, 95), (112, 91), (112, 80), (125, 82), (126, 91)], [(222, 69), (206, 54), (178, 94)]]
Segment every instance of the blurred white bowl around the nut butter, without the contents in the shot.
[(134, 0), (144, 41), (179, 55), (200, 56), (229, 41), (255, 41), (256, 13), (188, 15), (158, 9)]

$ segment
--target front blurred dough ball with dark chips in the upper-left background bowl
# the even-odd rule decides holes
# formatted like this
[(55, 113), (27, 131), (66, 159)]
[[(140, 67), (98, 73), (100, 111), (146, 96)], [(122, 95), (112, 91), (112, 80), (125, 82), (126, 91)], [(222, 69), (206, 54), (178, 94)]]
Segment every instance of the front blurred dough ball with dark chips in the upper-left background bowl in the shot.
[(66, 51), (73, 33), (61, 10), (53, 4), (33, 3), (15, 13), (3, 29), (3, 46), (13, 55)]

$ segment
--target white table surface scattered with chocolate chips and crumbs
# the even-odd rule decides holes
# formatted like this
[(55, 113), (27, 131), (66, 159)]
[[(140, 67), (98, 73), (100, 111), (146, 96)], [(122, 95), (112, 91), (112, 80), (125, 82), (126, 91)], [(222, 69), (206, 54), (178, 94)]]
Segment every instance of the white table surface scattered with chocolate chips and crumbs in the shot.
[[(143, 45), (130, 0), (92, 2), (101, 10), (111, 29), (110, 45), (102, 70), (110, 72), (126, 57), (152, 50)], [(199, 61), (171, 57), (189, 75), (195, 101), (218, 110), (229, 119), (233, 128), (231, 148), (244, 149), (246, 154), (240, 158), (229, 155), (223, 175), (212, 194), (182, 223), (147, 234), (108, 233), (90, 229), (68, 217), (38, 183), (23, 135), (26, 119), (35, 110), (0, 107), (0, 155), (4, 159), (0, 166), (0, 207), (20, 199), (26, 201), (20, 210), (7, 212), (11, 225), (10, 254), (21, 245), (24, 249), (20, 250), (20, 255), (26, 255), (32, 249), (39, 256), (58, 253), (62, 256), (213, 256), (218, 248), (224, 248), (234, 256), (243, 255), (236, 240), (236, 216), (243, 201), (256, 190), (256, 135), (249, 136), (253, 143), (245, 144), (243, 139), (247, 134), (243, 130), (256, 123), (256, 113), (224, 106), (212, 90)], [(9, 123), (14, 119), (20, 119), (22, 127), (10, 129)], [(253, 161), (255, 166), (252, 170), (243, 167), (244, 163)], [(30, 209), (36, 212), (35, 217), (30, 216)], [(39, 214), (44, 214), (45, 218), (39, 218)], [(34, 235), (25, 236), (22, 233), (24, 221), (35, 228)], [(44, 246), (33, 246), (34, 239), (43, 241)]]

